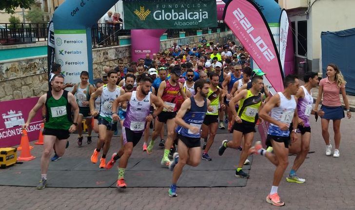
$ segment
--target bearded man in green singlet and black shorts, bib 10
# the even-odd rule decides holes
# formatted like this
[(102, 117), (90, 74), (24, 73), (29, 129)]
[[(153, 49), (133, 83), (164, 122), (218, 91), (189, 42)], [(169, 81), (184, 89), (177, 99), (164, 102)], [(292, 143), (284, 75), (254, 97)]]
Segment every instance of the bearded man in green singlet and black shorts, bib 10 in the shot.
[[(28, 114), (27, 122), (22, 126), (27, 129), (37, 111), (44, 105), (46, 108), (46, 121), (43, 129), (43, 153), (40, 159), (41, 179), (37, 189), (45, 188), (47, 184), (47, 171), (49, 166), (49, 157), (53, 145), (56, 145), (58, 156), (65, 152), (65, 145), (70, 133), (77, 128), (79, 107), (73, 94), (62, 90), (64, 86), (64, 77), (55, 75), (51, 80), (52, 90), (39, 97), (37, 104)], [(72, 119), (71, 112), (74, 112)]]

